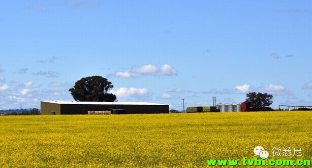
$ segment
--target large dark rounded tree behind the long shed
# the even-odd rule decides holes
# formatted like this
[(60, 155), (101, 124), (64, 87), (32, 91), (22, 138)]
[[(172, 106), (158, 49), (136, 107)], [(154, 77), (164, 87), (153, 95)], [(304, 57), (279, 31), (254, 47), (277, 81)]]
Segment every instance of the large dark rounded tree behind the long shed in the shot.
[(76, 81), (69, 92), (79, 102), (113, 102), (116, 96), (108, 93), (113, 87), (105, 77), (88, 76)]

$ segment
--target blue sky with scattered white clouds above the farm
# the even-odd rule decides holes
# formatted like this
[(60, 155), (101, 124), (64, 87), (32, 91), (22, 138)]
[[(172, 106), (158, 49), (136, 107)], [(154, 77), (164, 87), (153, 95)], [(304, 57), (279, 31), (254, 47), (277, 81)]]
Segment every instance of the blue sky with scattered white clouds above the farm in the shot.
[(72, 101), (101, 75), (118, 101), (185, 106), (270, 93), (312, 105), (312, 1), (2, 1), (0, 109)]

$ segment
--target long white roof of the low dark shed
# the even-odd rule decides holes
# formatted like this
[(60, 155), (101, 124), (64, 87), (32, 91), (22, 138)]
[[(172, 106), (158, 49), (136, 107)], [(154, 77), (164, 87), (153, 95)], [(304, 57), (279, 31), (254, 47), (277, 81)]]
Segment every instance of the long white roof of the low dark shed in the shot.
[(91, 104), (91, 105), (168, 105), (148, 102), (75, 102), (75, 101), (41, 101), (55, 104)]

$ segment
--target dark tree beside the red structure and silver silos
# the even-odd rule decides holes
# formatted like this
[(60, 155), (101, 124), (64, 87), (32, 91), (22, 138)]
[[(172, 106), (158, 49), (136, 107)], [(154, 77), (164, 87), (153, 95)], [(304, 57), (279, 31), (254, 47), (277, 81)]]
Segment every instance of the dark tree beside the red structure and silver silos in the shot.
[(247, 99), (245, 102), (250, 103), (251, 107), (255, 111), (272, 111), (273, 109), (269, 106), (273, 103), (273, 96), (267, 93), (256, 93), (251, 92), (246, 94)]

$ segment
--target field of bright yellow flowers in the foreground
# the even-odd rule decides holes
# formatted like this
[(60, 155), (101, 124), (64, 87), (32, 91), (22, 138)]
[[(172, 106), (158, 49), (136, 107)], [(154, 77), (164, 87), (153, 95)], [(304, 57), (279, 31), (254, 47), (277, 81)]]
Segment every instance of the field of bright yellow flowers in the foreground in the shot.
[(208, 167), (207, 159), (312, 156), (312, 111), (0, 116), (0, 167)]

